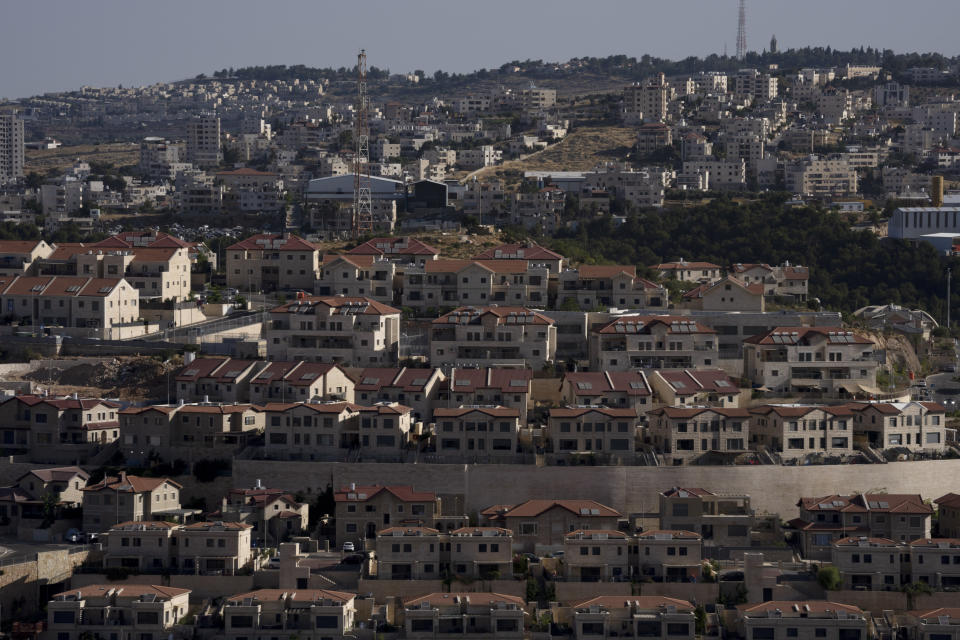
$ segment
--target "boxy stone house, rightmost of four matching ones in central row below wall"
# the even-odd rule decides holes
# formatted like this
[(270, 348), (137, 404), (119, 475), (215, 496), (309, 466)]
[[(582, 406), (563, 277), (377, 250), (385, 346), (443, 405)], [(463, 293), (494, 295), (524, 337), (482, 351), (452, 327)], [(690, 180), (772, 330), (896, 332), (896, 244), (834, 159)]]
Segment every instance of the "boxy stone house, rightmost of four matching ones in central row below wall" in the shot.
[(703, 540), (692, 531), (657, 529), (637, 534), (640, 575), (662, 582), (694, 582), (700, 577)]

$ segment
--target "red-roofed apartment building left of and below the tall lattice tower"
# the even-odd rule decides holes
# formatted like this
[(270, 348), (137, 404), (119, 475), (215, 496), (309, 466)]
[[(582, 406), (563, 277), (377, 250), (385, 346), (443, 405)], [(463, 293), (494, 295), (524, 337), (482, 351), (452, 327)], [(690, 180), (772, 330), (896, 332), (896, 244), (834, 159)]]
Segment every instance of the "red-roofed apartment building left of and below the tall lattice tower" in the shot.
[(291, 234), (261, 233), (227, 247), (227, 286), (244, 291), (313, 291), (320, 274), (316, 245)]

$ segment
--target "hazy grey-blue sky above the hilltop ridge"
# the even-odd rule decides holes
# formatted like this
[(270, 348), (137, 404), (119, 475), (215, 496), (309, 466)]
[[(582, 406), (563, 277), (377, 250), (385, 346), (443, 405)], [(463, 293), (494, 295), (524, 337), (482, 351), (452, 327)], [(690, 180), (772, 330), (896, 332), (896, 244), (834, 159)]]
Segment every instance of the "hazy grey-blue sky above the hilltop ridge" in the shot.
[[(224, 67), (472, 71), (514, 59), (736, 48), (737, 0), (5, 0), (0, 97)], [(747, 43), (960, 53), (960, 0), (748, 0)]]

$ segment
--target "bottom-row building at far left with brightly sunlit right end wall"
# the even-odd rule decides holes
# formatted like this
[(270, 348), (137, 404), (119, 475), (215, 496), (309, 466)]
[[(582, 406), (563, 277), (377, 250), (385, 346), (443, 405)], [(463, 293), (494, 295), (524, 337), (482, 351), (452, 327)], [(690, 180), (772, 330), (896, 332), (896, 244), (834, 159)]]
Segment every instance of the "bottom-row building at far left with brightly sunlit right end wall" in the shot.
[(163, 638), (190, 609), (190, 590), (146, 584), (90, 584), (47, 603), (49, 639)]

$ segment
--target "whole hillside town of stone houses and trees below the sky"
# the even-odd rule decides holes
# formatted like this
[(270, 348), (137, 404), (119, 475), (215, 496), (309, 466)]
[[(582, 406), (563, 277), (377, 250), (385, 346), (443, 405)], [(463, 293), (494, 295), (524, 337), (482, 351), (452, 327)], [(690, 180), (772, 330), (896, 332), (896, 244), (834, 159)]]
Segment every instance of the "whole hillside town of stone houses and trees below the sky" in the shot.
[(0, 100), (0, 636), (960, 640), (960, 56), (736, 4)]

